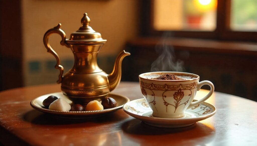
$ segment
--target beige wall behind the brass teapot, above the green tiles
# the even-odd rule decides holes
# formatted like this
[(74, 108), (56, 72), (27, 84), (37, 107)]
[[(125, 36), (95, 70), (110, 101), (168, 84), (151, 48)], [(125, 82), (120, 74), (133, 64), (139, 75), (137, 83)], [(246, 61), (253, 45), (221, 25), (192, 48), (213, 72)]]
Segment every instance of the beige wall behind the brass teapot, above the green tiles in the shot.
[[(33, 77), (45, 77), (40, 73), (29, 73), (28, 62), (33, 60), (54, 59), (47, 53), (43, 44), (44, 33), (61, 23), (61, 29), (70, 33), (80, 26), (80, 19), (87, 13), (91, 19), (90, 26), (107, 39), (99, 56), (116, 55), (125, 42), (136, 36), (138, 30), (137, 0), (23, 0), (22, 28), (25, 85), (31, 85)], [(60, 45), (61, 37), (54, 34), (50, 37), (52, 48), (60, 58), (73, 58), (70, 49)], [(41, 74), (41, 75), (40, 75)], [(55, 72), (54, 75), (58, 75)], [(55, 82), (55, 81), (54, 81)]]

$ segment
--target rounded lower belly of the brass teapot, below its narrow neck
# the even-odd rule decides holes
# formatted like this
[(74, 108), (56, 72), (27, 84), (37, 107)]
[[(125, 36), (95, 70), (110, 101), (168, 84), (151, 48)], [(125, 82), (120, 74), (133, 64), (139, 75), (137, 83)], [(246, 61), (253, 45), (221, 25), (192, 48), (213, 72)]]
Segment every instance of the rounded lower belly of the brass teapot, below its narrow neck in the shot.
[(68, 71), (61, 83), (61, 91), (75, 104), (87, 104), (102, 100), (110, 92), (107, 75), (98, 73), (73, 73)]

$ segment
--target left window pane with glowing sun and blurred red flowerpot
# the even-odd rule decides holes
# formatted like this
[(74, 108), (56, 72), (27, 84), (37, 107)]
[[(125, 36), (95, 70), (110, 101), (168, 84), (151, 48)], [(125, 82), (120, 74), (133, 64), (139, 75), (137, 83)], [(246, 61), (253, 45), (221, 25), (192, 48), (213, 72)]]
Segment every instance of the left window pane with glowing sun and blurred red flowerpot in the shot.
[(217, 0), (154, 0), (156, 30), (214, 31)]

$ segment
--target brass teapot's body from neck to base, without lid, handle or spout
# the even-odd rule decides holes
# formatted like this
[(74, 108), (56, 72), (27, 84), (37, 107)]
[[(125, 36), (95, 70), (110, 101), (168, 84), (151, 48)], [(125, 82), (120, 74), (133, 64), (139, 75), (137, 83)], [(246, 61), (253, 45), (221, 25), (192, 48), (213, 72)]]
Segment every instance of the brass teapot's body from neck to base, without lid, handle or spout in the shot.
[(69, 45), (75, 61), (62, 78), (61, 90), (74, 103), (99, 101), (110, 92), (107, 74), (97, 64), (97, 54), (102, 45)]

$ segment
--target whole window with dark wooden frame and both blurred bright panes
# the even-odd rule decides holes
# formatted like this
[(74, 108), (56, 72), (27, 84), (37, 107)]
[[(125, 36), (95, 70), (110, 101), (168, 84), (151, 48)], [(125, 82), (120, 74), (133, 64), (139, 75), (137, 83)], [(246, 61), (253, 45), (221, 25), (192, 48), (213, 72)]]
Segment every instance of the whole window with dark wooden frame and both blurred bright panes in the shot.
[(257, 41), (256, 0), (142, 2), (142, 35)]

